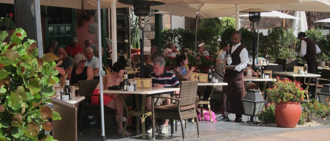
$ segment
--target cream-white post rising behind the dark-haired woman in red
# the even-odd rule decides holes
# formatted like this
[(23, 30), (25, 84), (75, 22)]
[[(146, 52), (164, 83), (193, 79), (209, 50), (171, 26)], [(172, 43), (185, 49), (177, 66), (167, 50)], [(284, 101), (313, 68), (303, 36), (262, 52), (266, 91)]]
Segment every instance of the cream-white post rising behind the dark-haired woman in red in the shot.
[[(111, 40), (112, 40), (112, 64), (117, 62), (117, 22), (116, 22), (116, 0), (111, 2)], [(101, 21), (99, 21), (101, 22)], [(100, 42), (100, 41), (99, 41)]]

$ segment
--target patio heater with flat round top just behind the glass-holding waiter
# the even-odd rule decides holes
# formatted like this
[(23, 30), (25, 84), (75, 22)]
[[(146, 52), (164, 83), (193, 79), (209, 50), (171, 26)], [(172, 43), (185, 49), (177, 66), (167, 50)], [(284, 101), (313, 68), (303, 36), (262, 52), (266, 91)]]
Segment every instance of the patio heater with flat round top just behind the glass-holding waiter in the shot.
[[(254, 68), (255, 66), (255, 30), (257, 30), (257, 26), (259, 25), (259, 21), (261, 19), (260, 17), (260, 13), (261, 12), (271, 12), (271, 11), (268, 11), (268, 10), (263, 10), (263, 9), (259, 9), (259, 8), (250, 8), (250, 9), (247, 9), (247, 10), (243, 10), (243, 11), (240, 11), (242, 13), (248, 13), (249, 16), (248, 16), (248, 19), (252, 22), (252, 30), (253, 30), (253, 40), (252, 40), (252, 46), (253, 46), (253, 52), (252, 52), (252, 68)], [(259, 33), (258, 33), (259, 34)]]

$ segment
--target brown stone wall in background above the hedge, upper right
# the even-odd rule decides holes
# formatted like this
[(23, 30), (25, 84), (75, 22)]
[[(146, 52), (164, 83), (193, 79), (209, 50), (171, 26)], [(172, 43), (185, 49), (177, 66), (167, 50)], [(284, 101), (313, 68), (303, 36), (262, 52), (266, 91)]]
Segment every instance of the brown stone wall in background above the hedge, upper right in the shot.
[[(294, 16), (295, 11), (290, 11), (288, 14)], [(314, 21), (330, 18), (330, 13), (325, 12), (310, 12), (311, 14), (311, 25), (314, 26), (329, 26), (329, 23), (314, 23)], [(308, 20), (308, 12), (306, 12), (306, 19)], [(283, 20), (282, 18), (261, 18), (259, 22), (259, 29), (273, 29), (277, 26), (282, 26)], [(251, 22), (248, 18), (241, 18), (241, 27), (250, 28)], [(293, 19), (285, 19), (285, 27), (292, 27)]]

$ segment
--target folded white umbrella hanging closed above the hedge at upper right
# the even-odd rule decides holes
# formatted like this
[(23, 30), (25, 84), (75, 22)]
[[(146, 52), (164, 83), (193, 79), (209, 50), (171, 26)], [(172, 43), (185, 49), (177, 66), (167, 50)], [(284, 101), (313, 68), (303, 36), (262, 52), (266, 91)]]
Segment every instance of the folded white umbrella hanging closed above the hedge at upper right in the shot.
[(293, 20), (293, 34), (295, 37), (297, 37), (299, 32), (305, 32), (306, 30), (308, 30), (308, 27), (305, 11), (296, 11), (294, 13), (294, 16), (301, 18), (301, 20)]

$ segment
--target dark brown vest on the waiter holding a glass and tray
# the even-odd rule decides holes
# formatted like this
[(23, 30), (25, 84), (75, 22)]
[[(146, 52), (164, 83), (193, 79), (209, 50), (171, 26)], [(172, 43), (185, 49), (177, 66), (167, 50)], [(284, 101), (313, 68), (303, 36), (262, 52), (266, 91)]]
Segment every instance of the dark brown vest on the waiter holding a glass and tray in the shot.
[[(233, 46), (233, 44), (231, 46)], [(241, 44), (240, 46), (238, 46), (235, 49), (235, 51), (233, 53), (231, 53), (232, 47), (230, 47), (229, 53), (231, 53), (231, 60), (232, 60), (232, 63), (230, 65), (239, 65), (241, 63), (240, 53), (241, 53), (243, 48), (246, 48), (246, 47)], [(226, 52), (226, 55), (228, 55), (228, 51)], [(243, 70), (237, 71), (237, 70), (226, 69), (225, 76), (237, 76), (237, 75), (243, 75)]]

